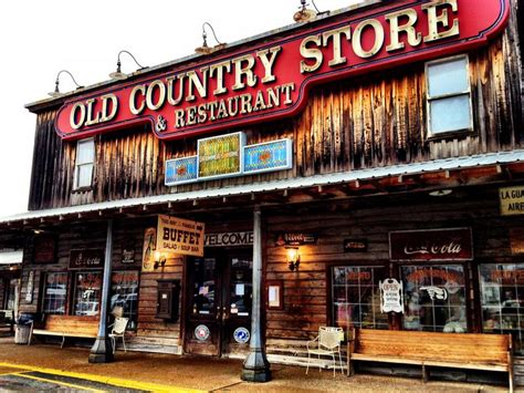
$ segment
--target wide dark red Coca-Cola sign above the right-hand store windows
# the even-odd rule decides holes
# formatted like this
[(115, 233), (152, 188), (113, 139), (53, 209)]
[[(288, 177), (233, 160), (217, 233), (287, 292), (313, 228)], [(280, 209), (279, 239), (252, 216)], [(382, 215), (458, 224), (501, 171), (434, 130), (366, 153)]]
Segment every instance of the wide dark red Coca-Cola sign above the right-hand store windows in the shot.
[(471, 228), (389, 232), (389, 257), (392, 261), (472, 260)]

